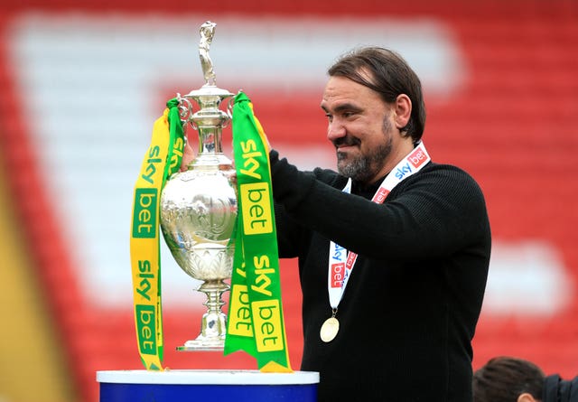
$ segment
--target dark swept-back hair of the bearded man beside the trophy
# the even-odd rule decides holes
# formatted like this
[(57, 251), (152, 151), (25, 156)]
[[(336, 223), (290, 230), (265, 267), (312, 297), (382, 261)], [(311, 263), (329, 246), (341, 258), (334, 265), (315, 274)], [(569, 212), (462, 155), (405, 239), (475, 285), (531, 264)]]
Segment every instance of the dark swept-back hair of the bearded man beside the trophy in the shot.
[(419, 142), (425, 126), (422, 84), (399, 54), (379, 47), (360, 48), (341, 56), (327, 72), (331, 77), (351, 79), (375, 90), (389, 104), (406, 94), (412, 101), (412, 113), (401, 131), (411, 136), (414, 143)]

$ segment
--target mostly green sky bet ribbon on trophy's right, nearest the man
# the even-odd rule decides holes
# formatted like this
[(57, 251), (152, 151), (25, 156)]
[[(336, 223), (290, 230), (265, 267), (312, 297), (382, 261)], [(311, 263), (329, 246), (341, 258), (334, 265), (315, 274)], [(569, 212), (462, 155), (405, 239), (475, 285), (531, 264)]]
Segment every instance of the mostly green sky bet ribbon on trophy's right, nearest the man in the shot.
[(292, 372), (284, 328), (269, 146), (243, 92), (233, 108), (238, 225), (225, 354), (247, 351), (266, 372)]

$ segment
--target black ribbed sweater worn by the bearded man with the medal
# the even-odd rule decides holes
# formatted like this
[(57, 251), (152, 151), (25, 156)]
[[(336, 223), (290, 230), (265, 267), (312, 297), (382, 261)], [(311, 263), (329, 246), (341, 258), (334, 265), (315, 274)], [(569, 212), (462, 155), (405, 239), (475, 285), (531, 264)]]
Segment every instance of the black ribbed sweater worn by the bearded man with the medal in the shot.
[[(480, 187), (429, 163), (384, 204), (378, 188), (329, 170), (298, 171), (271, 151), (279, 257), (298, 257), (303, 370), (319, 371), (319, 401), (471, 400), (471, 339), (488, 275), (490, 230)], [(330, 239), (359, 254), (325, 343)]]

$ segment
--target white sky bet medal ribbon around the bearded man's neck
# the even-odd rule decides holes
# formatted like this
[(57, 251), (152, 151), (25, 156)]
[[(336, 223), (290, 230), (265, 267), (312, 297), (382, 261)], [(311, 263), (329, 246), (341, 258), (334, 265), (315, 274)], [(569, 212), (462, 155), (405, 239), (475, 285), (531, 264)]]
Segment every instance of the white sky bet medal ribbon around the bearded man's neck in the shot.
[[(431, 158), (425, 150), (424, 143), (420, 143), (420, 145), (407, 154), (406, 157), (396, 164), (396, 167), (387, 174), (387, 177), (381, 182), (378, 191), (374, 194), (371, 201), (378, 204), (383, 203), (389, 192), (391, 192), (397, 184), (403, 182), (412, 174), (419, 172), (430, 160)], [(351, 192), (351, 179), (348, 180), (342, 192)], [(331, 241), (329, 247), (327, 291), (329, 293), (329, 302), (333, 310), (333, 316), (337, 312), (337, 307), (350, 280), (357, 258), (358, 255), (356, 253), (348, 253), (345, 248)]]

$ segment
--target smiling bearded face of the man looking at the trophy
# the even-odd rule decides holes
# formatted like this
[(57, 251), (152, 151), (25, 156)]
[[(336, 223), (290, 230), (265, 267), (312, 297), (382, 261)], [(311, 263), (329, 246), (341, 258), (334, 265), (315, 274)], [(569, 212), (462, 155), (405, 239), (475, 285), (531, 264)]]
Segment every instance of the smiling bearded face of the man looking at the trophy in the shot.
[(329, 119), (327, 138), (337, 150), (340, 174), (371, 183), (388, 173), (398, 130), (392, 108), (376, 91), (350, 79), (331, 77), (321, 107)]

